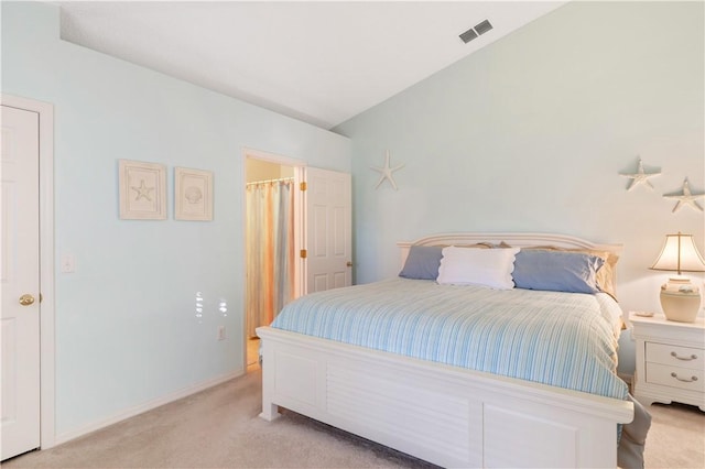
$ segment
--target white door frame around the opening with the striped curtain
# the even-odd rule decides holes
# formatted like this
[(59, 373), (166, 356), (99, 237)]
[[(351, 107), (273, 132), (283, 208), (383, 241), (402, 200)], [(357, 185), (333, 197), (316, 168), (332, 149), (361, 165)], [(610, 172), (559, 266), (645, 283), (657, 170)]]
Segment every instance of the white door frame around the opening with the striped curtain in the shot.
[[(294, 168), (294, 183), (296, 188), (299, 183), (303, 179), (303, 168), (307, 166), (307, 163), (303, 160), (296, 160), (289, 156), (282, 156), (275, 153), (264, 152), (262, 150), (256, 150), (252, 148), (242, 148), (242, 159), (241, 159), (241, 174), (242, 174), (242, 279), (245, 280), (245, 292), (242, 294), (242, 321), (241, 329), (242, 337), (245, 338), (245, 330), (247, 329), (247, 265), (245, 262), (245, 257), (247, 252), (247, 160), (262, 160), (269, 163), (281, 164), (285, 166), (292, 166)], [(303, 249), (303, 236), (302, 231), (304, 229), (304, 220), (303, 220), (303, 210), (300, 209), (302, 207), (303, 194), (301, 190), (294, 190), (294, 252), (300, 252)], [(296, 296), (301, 296), (303, 285), (305, 284), (305, 264), (304, 260), (301, 259), (300, 255), (296, 255), (296, 268), (295, 268), (295, 286)], [(242, 370), (247, 372), (247, 341), (242, 340)]]

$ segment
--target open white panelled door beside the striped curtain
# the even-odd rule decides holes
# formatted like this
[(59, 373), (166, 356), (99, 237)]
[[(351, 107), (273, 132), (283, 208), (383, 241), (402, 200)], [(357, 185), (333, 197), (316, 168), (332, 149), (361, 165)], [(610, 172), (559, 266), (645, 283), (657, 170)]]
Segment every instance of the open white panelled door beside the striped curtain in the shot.
[(304, 293), (352, 284), (350, 175), (304, 168)]

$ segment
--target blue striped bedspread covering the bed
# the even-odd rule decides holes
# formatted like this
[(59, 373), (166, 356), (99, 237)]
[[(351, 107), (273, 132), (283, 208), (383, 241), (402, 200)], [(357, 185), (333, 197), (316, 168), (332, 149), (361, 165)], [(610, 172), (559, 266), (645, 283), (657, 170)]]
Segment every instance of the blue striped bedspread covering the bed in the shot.
[(621, 309), (607, 294), (390, 279), (303, 296), (272, 327), (505, 377), (626, 399)]

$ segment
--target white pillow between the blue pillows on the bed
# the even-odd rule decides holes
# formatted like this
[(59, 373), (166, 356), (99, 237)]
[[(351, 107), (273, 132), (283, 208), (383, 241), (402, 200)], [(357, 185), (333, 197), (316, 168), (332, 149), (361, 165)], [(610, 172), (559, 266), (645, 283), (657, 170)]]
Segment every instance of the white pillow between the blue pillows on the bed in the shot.
[(514, 287), (511, 273), (519, 248), (443, 248), (438, 268), (440, 284), (485, 285), (497, 290)]

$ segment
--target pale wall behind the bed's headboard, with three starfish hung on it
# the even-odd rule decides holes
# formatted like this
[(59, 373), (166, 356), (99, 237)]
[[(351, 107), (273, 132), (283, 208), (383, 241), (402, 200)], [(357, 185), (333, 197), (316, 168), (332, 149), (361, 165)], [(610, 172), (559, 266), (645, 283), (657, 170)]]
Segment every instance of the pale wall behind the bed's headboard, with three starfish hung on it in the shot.
[[(662, 197), (685, 176), (705, 189), (703, 13), (571, 2), (336, 128), (352, 140), (357, 282), (394, 275), (400, 240), (560, 232), (623, 243), (622, 308), (659, 310), (666, 274), (648, 266), (664, 234), (694, 233), (703, 250), (703, 212), (672, 214)], [(386, 150), (405, 164), (399, 192), (373, 188)], [(654, 190), (626, 190), (619, 173), (638, 155), (662, 171)], [(633, 345), (621, 342), (630, 373)]]

